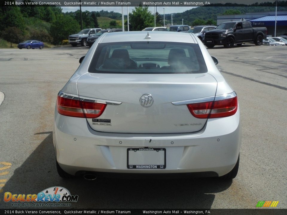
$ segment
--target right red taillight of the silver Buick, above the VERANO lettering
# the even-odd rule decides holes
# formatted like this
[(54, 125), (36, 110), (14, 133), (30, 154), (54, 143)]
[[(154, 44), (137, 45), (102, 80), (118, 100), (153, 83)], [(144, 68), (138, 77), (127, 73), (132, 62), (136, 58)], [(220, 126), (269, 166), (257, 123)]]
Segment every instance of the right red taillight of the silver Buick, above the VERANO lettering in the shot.
[(190, 113), (200, 119), (232, 116), (238, 108), (236, 93), (215, 96), (214, 101), (188, 104)]

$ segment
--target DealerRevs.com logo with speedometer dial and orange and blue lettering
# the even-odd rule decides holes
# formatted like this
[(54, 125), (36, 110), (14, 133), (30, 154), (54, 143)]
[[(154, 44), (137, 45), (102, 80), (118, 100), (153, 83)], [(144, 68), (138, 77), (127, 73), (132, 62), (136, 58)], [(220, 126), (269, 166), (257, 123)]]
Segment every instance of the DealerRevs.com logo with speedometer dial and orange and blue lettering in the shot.
[(4, 193), (4, 202), (11, 202), (13, 207), (59, 207), (71, 206), (71, 202), (78, 201), (78, 195), (71, 195), (70, 191), (63, 187), (50, 187), (38, 194), (12, 194)]

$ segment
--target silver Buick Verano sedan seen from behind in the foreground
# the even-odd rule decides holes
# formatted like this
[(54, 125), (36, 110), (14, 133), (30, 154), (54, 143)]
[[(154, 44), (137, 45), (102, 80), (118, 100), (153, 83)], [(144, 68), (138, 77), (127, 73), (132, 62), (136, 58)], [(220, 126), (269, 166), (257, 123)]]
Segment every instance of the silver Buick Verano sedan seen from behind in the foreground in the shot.
[(197, 36), (103, 34), (80, 60), (55, 108), (60, 176), (236, 176), (237, 96)]

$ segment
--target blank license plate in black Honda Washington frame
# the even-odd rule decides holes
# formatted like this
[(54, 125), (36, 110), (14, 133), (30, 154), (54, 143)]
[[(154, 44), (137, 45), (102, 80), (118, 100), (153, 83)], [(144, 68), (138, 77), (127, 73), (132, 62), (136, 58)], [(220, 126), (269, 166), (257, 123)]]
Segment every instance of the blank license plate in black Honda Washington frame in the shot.
[(165, 148), (128, 148), (128, 169), (165, 169)]

